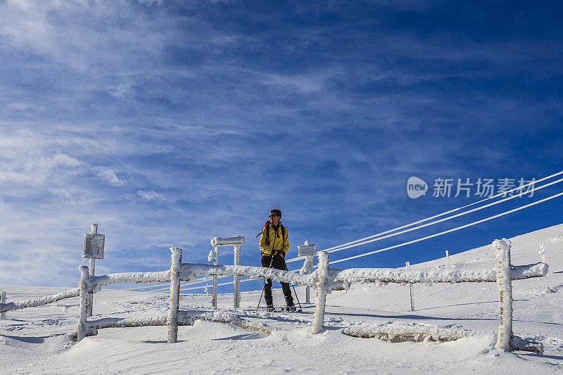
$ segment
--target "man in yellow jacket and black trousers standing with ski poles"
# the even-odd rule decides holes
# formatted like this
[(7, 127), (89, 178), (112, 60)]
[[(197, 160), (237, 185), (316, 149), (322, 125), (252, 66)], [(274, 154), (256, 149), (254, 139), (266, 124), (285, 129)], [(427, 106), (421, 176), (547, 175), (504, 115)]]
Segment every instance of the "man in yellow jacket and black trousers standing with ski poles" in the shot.
[[(289, 251), (289, 233), (281, 222), (281, 211), (275, 208), (270, 211), (270, 220), (264, 225), (260, 234), (260, 250), (262, 250), (262, 267), (274, 267), (286, 270), (285, 256)], [(289, 283), (281, 283), (281, 289), (286, 298), (286, 310), (295, 311), (293, 297)], [(264, 284), (264, 297), (266, 299), (266, 310), (274, 310), (272, 299), (272, 279), (267, 279)]]

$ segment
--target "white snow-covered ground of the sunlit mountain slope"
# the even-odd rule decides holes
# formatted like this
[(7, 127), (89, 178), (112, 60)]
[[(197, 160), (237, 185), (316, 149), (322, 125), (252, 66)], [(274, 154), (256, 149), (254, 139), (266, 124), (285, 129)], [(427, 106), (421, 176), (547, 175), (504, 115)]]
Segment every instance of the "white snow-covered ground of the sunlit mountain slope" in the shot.
[[(241, 293), (241, 308), (232, 309), (232, 295), (220, 295), (219, 309), (275, 328), (271, 335), (232, 324), (196, 321), (180, 326), (178, 343), (167, 344), (166, 326), (108, 328), (72, 343), (78, 299), (6, 313), (0, 320), (2, 374), (516, 374), (563, 373), (563, 224), (512, 239), (512, 264), (540, 261), (545, 243), (548, 275), (512, 282), (514, 333), (543, 343), (545, 352), (495, 350), (498, 289), (495, 283), (413, 286), (415, 311), (410, 311), (408, 286), (353, 284), (327, 298), (325, 329), (311, 335), (312, 304), (303, 305), (303, 287), (296, 287), (303, 313), (255, 313), (260, 291)], [(492, 242), (492, 239), (491, 241)], [(412, 268), (448, 267), (457, 262), (495, 266), (490, 243), (450, 258)], [(124, 270), (127, 271), (127, 270)], [(78, 283), (78, 280), (77, 280)], [(276, 283), (274, 283), (276, 284)], [(279, 284), (277, 284), (279, 285)], [(0, 286), (8, 302), (58, 293), (63, 288)], [(312, 291), (314, 295), (314, 291)], [(181, 310), (210, 311), (207, 295), (182, 295)], [(281, 290), (274, 303), (281, 303)], [(96, 317), (157, 317), (167, 314), (167, 293), (102, 290), (94, 295)], [(262, 301), (263, 303), (263, 301)], [(356, 338), (342, 333), (368, 326), (424, 325), (421, 330), (469, 334), (455, 341), (422, 339), (391, 341)]]

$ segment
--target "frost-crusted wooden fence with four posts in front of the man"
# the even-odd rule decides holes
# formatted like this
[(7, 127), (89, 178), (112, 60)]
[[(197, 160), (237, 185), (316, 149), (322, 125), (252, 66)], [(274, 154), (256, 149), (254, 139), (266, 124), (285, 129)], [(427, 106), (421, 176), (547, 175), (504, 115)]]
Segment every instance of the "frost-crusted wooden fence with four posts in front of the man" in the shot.
[[(502, 350), (522, 350), (522, 348), (525, 348), (526, 350), (541, 352), (540, 344), (536, 345), (536, 343), (523, 341), (512, 333), (512, 280), (545, 276), (548, 272), (548, 265), (540, 262), (533, 265), (512, 266), (510, 265), (510, 241), (506, 239), (496, 240), (492, 246), (495, 249), (497, 264), (495, 267), (483, 267), (482, 269), (467, 268), (460, 265), (448, 266), (449, 268), (444, 269), (429, 268), (422, 270), (386, 268), (331, 269), (328, 267), (329, 253), (322, 251), (318, 253), (319, 267), (312, 274), (303, 275), (265, 267), (183, 264), (182, 249), (179, 247), (170, 248), (172, 252), (171, 267), (170, 270), (162, 272), (127, 272), (93, 277), (89, 275), (88, 267), (82, 266), (80, 267), (80, 317), (77, 339), (80, 341), (87, 334), (95, 334), (96, 327), (166, 324), (168, 326), (168, 342), (175, 343), (177, 341), (178, 326), (186, 324), (186, 322), (189, 322), (189, 319), (194, 318), (192, 315), (189, 315), (190, 318), (188, 319), (186, 312), (179, 310), (179, 284), (181, 281), (193, 281), (198, 276), (236, 277), (240, 275), (253, 279), (264, 277), (266, 279), (274, 279), (275, 281), (317, 288), (312, 333), (320, 333), (323, 329), (324, 306), (327, 293), (347, 289), (353, 283), (497, 282), (500, 293), (500, 324), (497, 348)], [(87, 321), (86, 303), (88, 293), (96, 293), (101, 290), (102, 286), (110, 284), (141, 282), (170, 282), (170, 310), (166, 318)], [(213, 314), (216, 313), (221, 314), (220, 312), (213, 312)], [(235, 314), (229, 314), (222, 318), (217, 318), (217, 315), (210, 317), (204, 314), (199, 316), (198, 319), (228, 321), (246, 328), (256, 328), (255, 324), (242, 321)]]

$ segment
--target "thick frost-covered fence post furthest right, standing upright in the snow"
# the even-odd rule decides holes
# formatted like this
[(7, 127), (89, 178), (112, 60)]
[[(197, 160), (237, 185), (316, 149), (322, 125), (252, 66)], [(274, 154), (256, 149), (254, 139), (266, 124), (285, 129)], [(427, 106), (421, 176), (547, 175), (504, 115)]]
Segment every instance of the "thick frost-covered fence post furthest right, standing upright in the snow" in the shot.
[(510, 275), (510, 240), (493, 242), (497, 260), (497, 285), (499, 292), (500, 322), (496, 348), (510, 351), (512, 343), (512, 278)]

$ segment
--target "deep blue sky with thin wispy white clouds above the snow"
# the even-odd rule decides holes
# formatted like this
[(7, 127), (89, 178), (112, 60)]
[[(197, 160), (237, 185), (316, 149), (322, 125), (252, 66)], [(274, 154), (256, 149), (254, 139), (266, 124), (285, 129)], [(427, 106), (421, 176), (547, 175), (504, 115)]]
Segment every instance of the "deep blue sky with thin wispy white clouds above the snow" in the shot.
[[(211, 238), (235, 234), (242, 264), (259, 265), (271, 208), (291, 256), (479, 199), (413, 200), (410, 176), (562, 170), (556, 1), (0, 0), (0, 13), (0, 285), (74, 286), (91, 222), (106, 234), (96, 274), (165, 269), (172, 245), (205, 262)], [(338, 267), (438, 258), (559, 224), (561, 210), (558, 198)]]

